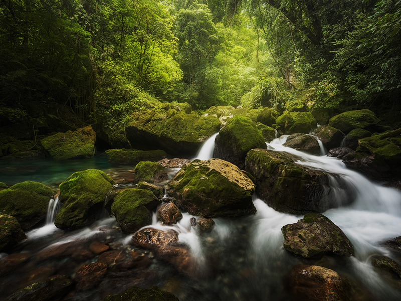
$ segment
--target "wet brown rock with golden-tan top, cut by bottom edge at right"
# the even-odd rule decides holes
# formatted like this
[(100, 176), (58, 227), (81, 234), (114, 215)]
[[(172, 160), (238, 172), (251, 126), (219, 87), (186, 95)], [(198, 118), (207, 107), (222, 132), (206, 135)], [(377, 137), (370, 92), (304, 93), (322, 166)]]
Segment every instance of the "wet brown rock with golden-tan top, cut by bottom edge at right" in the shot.
[(317, 265), (295, 265), (287, 276), (287, 290), (294, 300), (370, 301), (364, 287), (334, 270)]

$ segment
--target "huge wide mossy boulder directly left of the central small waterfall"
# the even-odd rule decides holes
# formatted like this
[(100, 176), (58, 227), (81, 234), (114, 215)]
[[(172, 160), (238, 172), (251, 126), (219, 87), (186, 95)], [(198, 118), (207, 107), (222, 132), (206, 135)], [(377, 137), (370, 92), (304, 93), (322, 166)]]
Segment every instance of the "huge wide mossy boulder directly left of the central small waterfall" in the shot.
[(186, 114), (171, 105), (133, 113), (125, 127), (132, 147), (163, 149), (173, 155), (195, 154), (220, 129), (216, 116)]

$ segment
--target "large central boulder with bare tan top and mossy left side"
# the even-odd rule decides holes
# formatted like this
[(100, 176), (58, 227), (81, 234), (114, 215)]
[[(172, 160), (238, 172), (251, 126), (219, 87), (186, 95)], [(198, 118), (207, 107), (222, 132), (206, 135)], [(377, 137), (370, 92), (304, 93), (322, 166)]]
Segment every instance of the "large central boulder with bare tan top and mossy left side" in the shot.
[(256, 213), (255, 184), (238, 167), (220, 159), (184, 165), (166, 190), (180, 209), (192, 215), (212, 218)]

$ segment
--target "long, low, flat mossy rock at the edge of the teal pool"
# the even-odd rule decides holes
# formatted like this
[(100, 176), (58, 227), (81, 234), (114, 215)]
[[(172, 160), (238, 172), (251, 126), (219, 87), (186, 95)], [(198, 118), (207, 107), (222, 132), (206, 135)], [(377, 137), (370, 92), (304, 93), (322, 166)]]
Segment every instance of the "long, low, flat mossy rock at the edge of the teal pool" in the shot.
[(137, 165), (141, 161), (159, 161), (167, 158), (166, 152), (157, 150), (138, 150), (138, 149), (108, 149), (106, 150), (107, 160), (112, 164), (133, 164)]

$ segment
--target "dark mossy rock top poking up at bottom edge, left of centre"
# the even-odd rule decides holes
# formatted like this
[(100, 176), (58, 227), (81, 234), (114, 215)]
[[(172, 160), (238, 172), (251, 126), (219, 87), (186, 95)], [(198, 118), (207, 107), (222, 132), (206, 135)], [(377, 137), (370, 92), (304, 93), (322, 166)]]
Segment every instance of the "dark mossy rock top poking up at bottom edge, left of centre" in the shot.
[(172, 293), (161, 290), (157, 285), (149, 288), (140, 288), (137, 285), (123, 292), (109, 295), (103, 301), (179, 301)]

